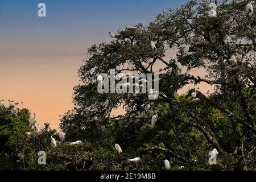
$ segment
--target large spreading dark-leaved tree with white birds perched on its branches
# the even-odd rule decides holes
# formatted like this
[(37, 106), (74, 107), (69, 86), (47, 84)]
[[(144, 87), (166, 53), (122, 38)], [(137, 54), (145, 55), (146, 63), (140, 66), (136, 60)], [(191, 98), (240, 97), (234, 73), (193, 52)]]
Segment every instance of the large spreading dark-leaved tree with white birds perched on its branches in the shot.
[[(209, 3), (189, 1), (159, 14), (148, 26), (126, 27), (118, 30), (113, 42), (90, 47), (79, 69), (81, 84), (74, 88), (75, 108), (61, 119), (68, 137), (111, 136), (124, 151), (149, 152), (191, 169), (209, 168), (208, 152), (216, 148), (218, 169), (255, 169), (255, 13), (246, 11), (249, 1), (219, 1), (217, 16), (209, 16)], [(176, 55), (170, 58), (170, 52)], [(177, 72), (175, 59), (187, 71)], [(97, 76), (110, 69), (159, 73), (159, 98), (148, 100), (148, 93), (98, 93)], [(193, 69), (207, 75), (196, 76)], [(177, 94), (201, 82), (214, 89), (209, 94), (194, 88)], [(195, 91), (197, 99), (191, 97)], [(113, 117), (120, 105), (126, 114)], [(158, 121), (150, 127), (153, 114), (158, 114)]]

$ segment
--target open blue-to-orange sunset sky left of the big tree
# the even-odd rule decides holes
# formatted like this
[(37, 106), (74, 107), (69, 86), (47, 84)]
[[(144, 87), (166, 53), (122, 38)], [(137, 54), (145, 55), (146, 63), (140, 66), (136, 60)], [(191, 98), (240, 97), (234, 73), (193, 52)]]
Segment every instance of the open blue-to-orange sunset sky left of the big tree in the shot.
[[(46, 17), (38, 4), (46, 4)], [(40, 124), (59, 127), (73, 108), (77, 70), (92, 44), (109, 42), (109, 31), (147, 25), (172, 0), (0, 0), (0, 100), (23, 102)]]

